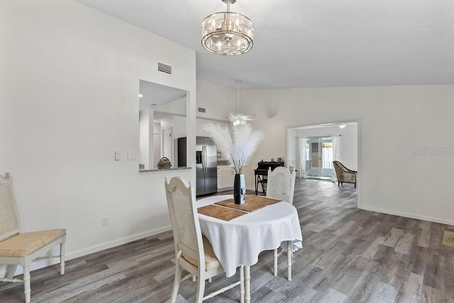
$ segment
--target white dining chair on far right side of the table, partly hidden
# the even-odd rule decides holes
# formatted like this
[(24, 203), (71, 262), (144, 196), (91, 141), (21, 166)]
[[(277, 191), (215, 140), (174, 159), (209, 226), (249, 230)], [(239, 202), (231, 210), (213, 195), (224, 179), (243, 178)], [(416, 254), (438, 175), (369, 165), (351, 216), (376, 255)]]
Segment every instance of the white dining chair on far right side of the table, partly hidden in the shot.
[[(293, 194), (295, 189), (295, 175), (294, 173), (287, 170), (285, 167), (276, 167), (271, 170), (268, 169), (267, 177), (267, 197), (273, 199), (279, 199), (281, 201), (289, 202), (293, 204)], [(281, 255), (284, 250), (277, 253), (277, 248), (274, 250), (274, 274), (277, 276), (277, 258)], [(292, 280), (292, 249), (287, 248), (287, 279)]]

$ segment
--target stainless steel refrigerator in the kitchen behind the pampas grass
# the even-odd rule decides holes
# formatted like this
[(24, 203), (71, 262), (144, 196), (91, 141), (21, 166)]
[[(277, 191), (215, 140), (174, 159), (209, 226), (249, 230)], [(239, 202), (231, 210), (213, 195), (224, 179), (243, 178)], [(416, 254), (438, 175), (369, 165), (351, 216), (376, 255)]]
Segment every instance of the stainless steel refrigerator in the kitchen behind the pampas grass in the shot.
[(196, 137), (196, 196), (218, 191), (217, 149), (209, 137)]

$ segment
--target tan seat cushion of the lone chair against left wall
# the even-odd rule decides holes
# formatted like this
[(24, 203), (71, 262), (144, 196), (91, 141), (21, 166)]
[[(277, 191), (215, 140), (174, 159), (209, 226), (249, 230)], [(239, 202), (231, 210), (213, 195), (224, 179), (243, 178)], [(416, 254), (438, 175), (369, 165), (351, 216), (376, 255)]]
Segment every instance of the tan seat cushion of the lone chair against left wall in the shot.
[(0, 242), (0, 257), (26, 257), (65, 235), (65, 228), (20, 233)]

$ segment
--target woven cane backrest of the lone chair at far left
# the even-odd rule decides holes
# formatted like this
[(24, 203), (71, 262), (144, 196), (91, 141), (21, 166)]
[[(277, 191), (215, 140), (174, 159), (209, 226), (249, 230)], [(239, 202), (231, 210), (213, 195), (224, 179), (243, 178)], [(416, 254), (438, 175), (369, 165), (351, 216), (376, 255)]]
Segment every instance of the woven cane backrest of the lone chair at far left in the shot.
[(21, 233), (21, 221), (11, 177), (0, 176), (0, 241)]

